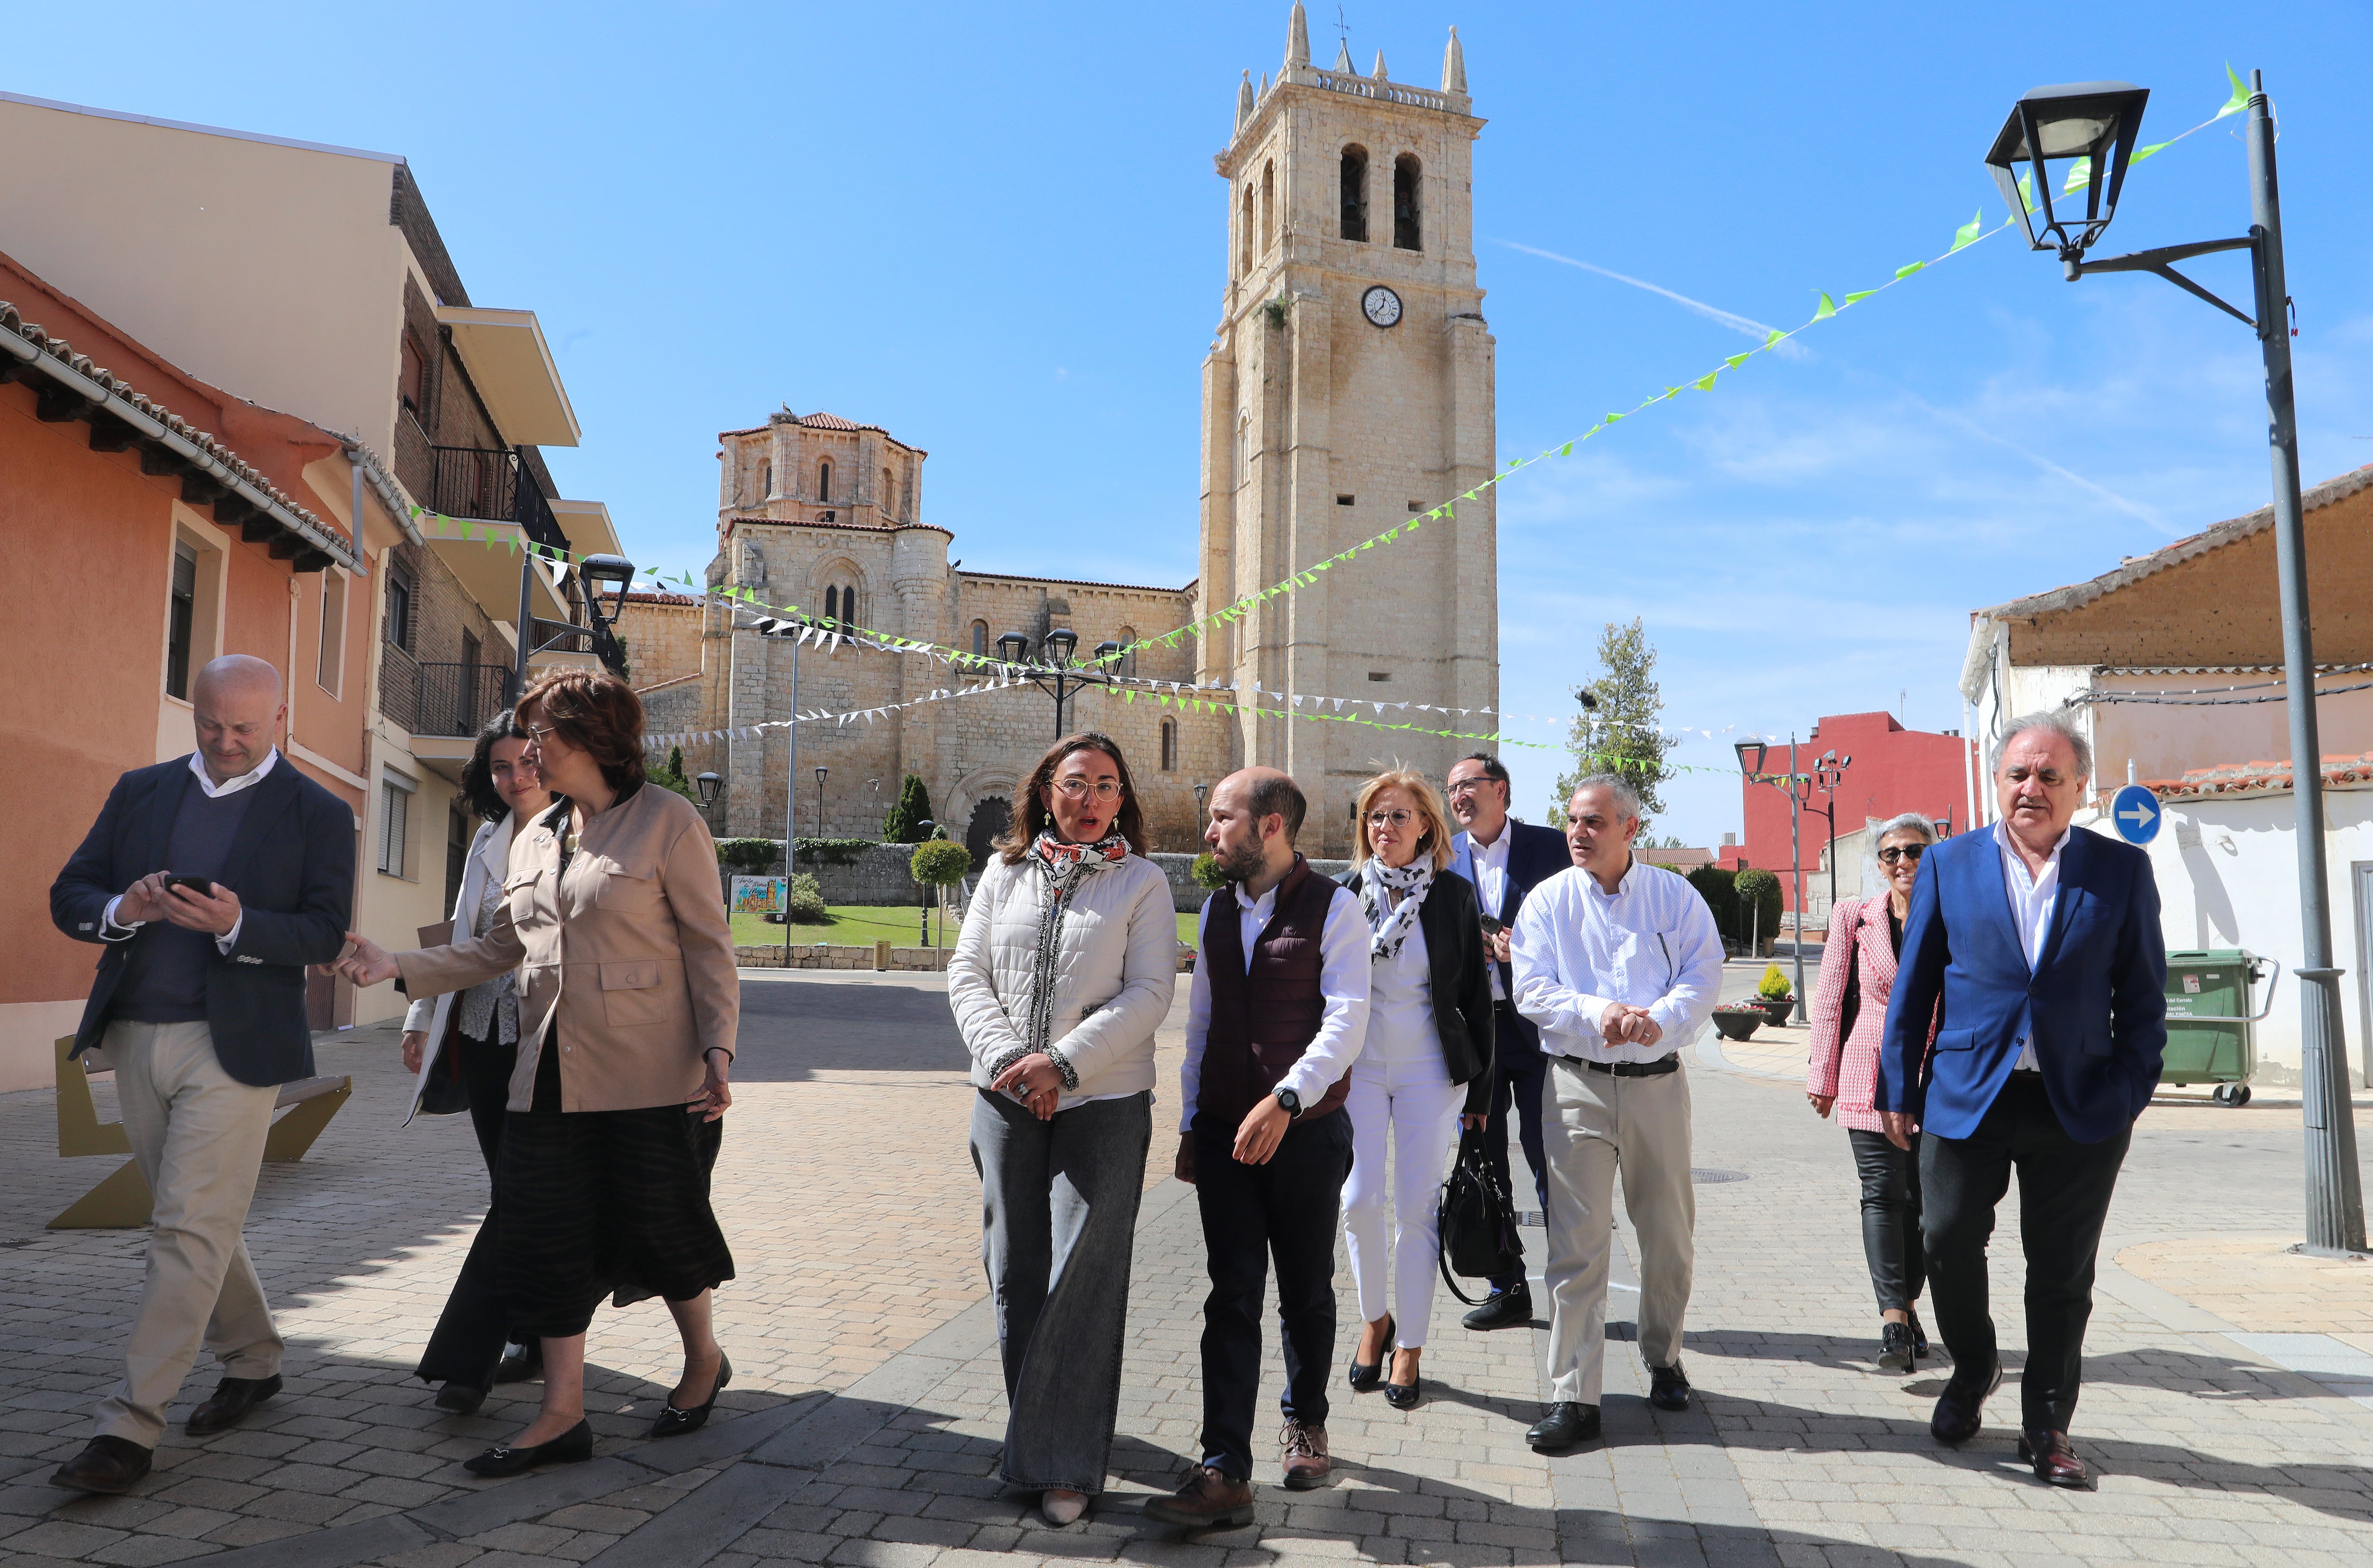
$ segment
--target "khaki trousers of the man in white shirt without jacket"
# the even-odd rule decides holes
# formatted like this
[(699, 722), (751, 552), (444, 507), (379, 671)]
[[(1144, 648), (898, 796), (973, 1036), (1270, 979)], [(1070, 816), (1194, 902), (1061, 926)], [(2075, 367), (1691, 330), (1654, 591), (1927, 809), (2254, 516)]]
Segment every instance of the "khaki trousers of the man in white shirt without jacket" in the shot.
[(1640, 1231), (1640, 1357), (1680, 1362), (1680, 1319), (1697, 1269), (1690, 1186), (1690, 1075), (1614, 1077), (1550, 1058), (1542, 1148), (1550, 1158), (1550, 1400), (1597, 1404), (1607, 1376), (1607, 1264), (1614, 1186)]

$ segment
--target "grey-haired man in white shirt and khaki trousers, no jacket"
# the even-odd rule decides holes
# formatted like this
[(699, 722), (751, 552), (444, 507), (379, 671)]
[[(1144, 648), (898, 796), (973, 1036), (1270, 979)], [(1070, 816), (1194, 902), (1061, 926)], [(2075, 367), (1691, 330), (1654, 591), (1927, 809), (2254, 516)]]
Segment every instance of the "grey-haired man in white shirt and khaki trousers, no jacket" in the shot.
[(1633, 859), (1640, 797), (1616, 776), (1566, 802), (1573, 868), (1516, 916), (1516, 1008), (1550, 1056), (1550, 1409), (1526, 1433), (1554, 1452), (1599, 1435), (1614, 1181), (1640, 1231), (1640, 1357), (1649, 1404), (1687, 1409), (1680, 1324), (1697, 1262), (1690, 1077), (1680, 1048), (1713, 1011), (1723, 937), (1680, 875)]

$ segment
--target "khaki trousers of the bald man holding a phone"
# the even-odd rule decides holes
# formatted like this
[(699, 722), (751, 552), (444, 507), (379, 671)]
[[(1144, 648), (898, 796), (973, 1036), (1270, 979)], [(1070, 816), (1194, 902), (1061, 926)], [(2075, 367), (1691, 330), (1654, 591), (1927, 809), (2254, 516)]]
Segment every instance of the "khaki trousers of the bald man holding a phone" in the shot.
[(102, 1065), (116, 1070), (123, 1132), (157, 1198), (157, 1229), (123, 1383), (100, 1402), (97, 1435), (157, 1447), (199, 1343), (223, 1376), (280, 1371), (280, 1331), (240, 1236), (280, 1094), (223, 1072), (202, 1022), (112, 1022)]

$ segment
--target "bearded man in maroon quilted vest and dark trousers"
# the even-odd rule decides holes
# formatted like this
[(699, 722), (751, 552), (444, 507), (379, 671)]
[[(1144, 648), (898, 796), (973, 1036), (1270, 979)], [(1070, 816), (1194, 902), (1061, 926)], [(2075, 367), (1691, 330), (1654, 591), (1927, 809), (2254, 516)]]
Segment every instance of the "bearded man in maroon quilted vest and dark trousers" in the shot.
[(1334, 1364), (1334, 1243), (1350, 1177), (1343, 1096), (1367, 1039), (1369, 930), (1360, 899), (1293, 849), (1303, 792), (1277, 769), (1243, 769), (1210, 792), (1203, 842), (1229, 887), (1203, 904), (1179, 1181), (1203, 1210), (1203, 1461), (1146, 1504), (1165, 1525), (1253, 1523), (1253, 1407), (1260, 1295), (1277, 1264), (1286, 1343), (1284, 1483), (1327, 1485), (1327, 1376)]

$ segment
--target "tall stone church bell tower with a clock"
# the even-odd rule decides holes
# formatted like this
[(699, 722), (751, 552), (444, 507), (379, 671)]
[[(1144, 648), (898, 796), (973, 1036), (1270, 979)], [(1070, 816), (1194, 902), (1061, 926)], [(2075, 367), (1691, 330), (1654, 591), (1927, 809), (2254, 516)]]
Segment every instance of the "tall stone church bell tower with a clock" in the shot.
[[(1457, 28), (1440, 90), (1310, 64), (1300, 2), (1272, 85), (1236, 95), (1227, 289), (1203, 361), (1201, 612), (1474, 489), (1495, 465)], [(1500, 705), (1493, 491), (1205, 636), (1201, 678), (1443, 707)], [(1386, 719), (1395, 719), (1388, 712)], [(1412, 719), (1433, 719), (1410, 712)], [(1293, 773), (1303, 849), (1343, 854), (1379, 761), (1440, 778), (1464, 742), (1234, 719), (1236, 757)], [(1448, 728), (1448, 726), (1436, 726)], [(1490, 728), (1478, 714), (1476, 728)]]

